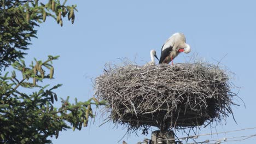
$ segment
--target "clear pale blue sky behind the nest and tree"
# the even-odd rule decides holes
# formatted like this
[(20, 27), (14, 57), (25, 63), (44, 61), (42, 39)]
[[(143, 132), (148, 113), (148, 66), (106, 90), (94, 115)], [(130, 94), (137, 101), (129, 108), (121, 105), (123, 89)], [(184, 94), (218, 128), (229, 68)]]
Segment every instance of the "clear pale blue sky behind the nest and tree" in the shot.
[[(38, 28), (38, 39), (33, 39), (26, 57), (30, 62), (33, 57), (61, 56), (54, 62), (55, 79), (50, 81), (63, 83), (56, 91), (59, 97), (69, 95), (71, 99), (88, 100), (94, 93), (91, 77), (102, 74), (106, 62), (118, 62), (121, 57), (133, 60), (136, 56), (136, 62), (142, 65), (150, 61), (151, 49), (160, 57), (166, 39), (182, 32), (192, 52), (206, 61), (216, 63), (214, 59), (219, 61), (226, 55), (221, 62), (235, 73), (233, 82), (241, 87), (239, 95), (246, 103), (246, 107), (233, 107), (238, 124), (229, 117), (216, 129), (202, 128), (199, 133), (256, 127), (255, 1), (69, 0), (68, 3), (78, 5), (74, 25), (65, 19), (60, 27), (47, 19)], [(188, 56), (182, 54), (174, 62), (185, 62)], [(81, 131), (64, 131), (53, 143), (118, 143), (126, 132), (111, 123), (98, 127), (101, 123), (102, 118), (98, 117)], [(214, 135), (201, 140), (251, 134), (256, 131)], [(150, 138), (150, 134), (143, 136), (139, 131), (138, 136), (132, 134), (123, 140), (132, 144), (144, 137)], [(255, 140), (256, 137), (252, 137), (230, 143), (255, 143)]]

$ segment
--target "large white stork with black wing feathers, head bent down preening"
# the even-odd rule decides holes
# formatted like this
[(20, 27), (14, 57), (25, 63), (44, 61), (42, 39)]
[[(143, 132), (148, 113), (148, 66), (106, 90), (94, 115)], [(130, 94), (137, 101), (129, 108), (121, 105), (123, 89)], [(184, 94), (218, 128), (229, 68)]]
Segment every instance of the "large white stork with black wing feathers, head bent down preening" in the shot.
[[(174, 33), (167, 39), (162, 46), (161, 57), (159, 64), (170, 63), (181, 52), (189, 53), (191, 51), (190, 46), (186, 44), (186, 38), (183, 33)], [(172, 62), (173, 64), (173, 62)]]

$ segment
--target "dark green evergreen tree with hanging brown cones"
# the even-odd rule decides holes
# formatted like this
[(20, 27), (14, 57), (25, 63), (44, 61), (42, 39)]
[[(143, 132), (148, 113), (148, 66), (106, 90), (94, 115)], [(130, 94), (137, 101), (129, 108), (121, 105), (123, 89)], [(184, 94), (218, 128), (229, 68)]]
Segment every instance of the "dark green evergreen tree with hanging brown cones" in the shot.
[[(53, 61), (59, 56), (34, 59), (29, 66), (24, 62), (31, 38), (37, 38), (35, 27), (47, 17), (60, 26), (64, 17), (73, 23), (75, 10), (76, 5), (59, 0), (0, 1), (0, 143), (51, 143), (49, 136), (57, 139), (62, 130), (86, 127), (89, 117), (94, 117), (91, 105), (104, 104), (96, 98), (85, 102), (75, 99), (71, 104), (67, 97), (57, 109), (54, 90), (61, 85), (50, 87), (42, 82), (53, 78)], [(8, 72), (5, 68), (10, 66), (14, 70)], [(34, 92), (24, 93), (24, 88)]]

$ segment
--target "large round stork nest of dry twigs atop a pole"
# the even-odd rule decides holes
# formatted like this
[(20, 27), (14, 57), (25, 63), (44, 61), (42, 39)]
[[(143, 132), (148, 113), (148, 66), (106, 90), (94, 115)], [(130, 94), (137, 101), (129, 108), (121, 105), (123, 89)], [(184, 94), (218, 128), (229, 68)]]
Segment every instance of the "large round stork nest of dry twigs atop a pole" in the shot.
[(96, 77), (96, 95), (106, 100), (114, 123), (129, 130), (194, 128), (230, 114), (229, 72), (207, 63), (109, 65)]

